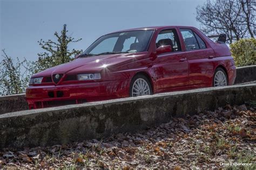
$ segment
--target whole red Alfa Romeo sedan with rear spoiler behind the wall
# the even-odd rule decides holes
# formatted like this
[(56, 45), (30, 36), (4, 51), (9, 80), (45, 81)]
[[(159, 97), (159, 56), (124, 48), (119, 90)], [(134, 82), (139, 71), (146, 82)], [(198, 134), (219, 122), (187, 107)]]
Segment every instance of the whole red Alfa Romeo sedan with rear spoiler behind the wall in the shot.
[(188, 26), (113, 32), (76, 59), (31, 77), (30, 109), (176, 90), (227, 86), (236, 70), (225, 36), (213, 42)]

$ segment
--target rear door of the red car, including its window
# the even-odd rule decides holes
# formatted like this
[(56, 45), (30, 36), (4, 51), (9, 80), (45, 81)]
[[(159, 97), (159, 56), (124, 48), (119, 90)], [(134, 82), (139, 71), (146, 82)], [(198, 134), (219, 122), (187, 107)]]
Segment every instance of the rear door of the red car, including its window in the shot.
[(187, 28), (179, 30), (186, 48), (185, 55), (189, 68), (188, 86), (191, 88), (211, 86), (215, 56), (213, 49), (207, 46), (194, 30)]

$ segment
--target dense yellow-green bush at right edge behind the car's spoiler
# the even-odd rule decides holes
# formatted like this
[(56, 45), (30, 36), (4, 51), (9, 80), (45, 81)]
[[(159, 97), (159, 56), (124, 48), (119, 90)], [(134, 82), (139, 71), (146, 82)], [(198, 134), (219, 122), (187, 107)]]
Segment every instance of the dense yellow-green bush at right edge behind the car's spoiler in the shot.
[(256, 39), (240, 39), (230, 45), (236, 66), (256, 65)]

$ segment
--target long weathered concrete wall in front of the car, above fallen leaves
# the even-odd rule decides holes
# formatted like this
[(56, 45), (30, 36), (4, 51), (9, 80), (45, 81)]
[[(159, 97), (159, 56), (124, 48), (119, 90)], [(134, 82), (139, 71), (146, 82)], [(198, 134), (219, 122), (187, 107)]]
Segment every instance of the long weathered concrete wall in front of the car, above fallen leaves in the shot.
[(0, 115), (0, 150), (48, 146), (135, 132), (173, 116), (256, 100), (256, 84), (66, 105)]

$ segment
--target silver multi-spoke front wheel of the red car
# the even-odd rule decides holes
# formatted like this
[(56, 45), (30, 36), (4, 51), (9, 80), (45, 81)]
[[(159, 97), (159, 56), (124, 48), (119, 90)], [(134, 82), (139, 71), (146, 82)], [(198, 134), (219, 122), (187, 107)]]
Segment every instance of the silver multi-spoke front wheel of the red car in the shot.
[[(139, 84), (142, 85), (143, 88), (141, 88)], [(138, 93), (138, 95), (136, 95), (136, 93)], [(130, 91), (129, 91), (130, 97), (152, 95), (152, 94), (153, 93), (152, 93), (151, 83), (146, 76), (142, 74), (138, 74), (132, 78), (132, 81), (130, 83)]]

